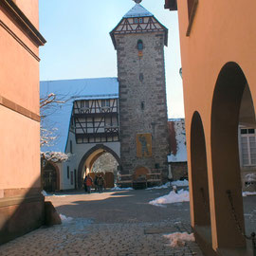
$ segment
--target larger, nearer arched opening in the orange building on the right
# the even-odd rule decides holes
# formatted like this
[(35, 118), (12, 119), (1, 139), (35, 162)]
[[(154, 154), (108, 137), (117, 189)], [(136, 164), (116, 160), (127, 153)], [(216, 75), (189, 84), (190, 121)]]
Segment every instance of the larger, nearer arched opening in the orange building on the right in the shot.
[[(245, 220), (238, 126), (240, 119), (246, 114), (241, 113), (241, 110), (247, 86), (247, 79), (241, 67), (236, 63), (228, 63), (219, 73), (213, 94), (210, 133), (213, 247), (231, 248), (246, 245), (242, 234), (245, 232)], [(252, 101), (249, 108), (254, 112)]]

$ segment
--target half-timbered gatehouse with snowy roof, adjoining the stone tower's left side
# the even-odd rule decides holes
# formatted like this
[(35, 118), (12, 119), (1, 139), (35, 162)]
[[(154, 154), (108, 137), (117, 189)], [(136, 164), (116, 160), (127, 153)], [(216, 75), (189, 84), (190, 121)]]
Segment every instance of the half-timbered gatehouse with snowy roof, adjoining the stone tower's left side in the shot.
[(59, 184), (48, 187), (78, 189), (102, 154), (108, 152), (119, 162), (119, 82), (117, 78), (41, 82), (41, 98), (49, 93), (61, 103), (49, 107), (42, 119), (42, 126), (53, 128), (56, 137), (42, 151), (62, 152), (69, 158), (55, 163)]

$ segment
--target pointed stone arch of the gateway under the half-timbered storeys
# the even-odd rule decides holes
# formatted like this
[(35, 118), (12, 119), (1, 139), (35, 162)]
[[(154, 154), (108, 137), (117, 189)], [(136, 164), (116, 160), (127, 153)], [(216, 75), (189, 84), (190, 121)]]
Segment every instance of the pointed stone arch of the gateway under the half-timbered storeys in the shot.
[(89, 151), (87, 151), (83, 156), (79, 164), (79, 169), (78, 169), (78, 189), (82, 189), (82, 178), (84, 174), (84, 164), (87, 162), (87, 168), (91, 170), (93, 163), (96, 159), (98, 159), (102, 154), (104, 153), (110, 153), (113, 155), (116, 160), (118, 161), (120, 165), (120, 158), (119, 155), (117, 155), (116, 152), (114, 152), (112, 149), (109, 147), (103, 145), (103, 144), (98, 144), (95, 147), (91, 148)]

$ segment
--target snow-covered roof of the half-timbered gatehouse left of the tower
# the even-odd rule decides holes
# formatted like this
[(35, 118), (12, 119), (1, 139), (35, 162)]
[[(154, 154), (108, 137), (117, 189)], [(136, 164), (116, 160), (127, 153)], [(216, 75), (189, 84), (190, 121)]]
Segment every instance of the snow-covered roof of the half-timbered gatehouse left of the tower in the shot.
[(46, 118), (41, 124), (47, 129), (56, 129), (57, 138), (52, 145), (43, 146), (41, 151), (64, 152), (68, 136), (73, 102), (78, 100), (117, 99), (119, 82), (117, 78), (77, 79), (40, 82), (40, 98), (53, 93), (64, 101), (54, 107), (45, 108)]

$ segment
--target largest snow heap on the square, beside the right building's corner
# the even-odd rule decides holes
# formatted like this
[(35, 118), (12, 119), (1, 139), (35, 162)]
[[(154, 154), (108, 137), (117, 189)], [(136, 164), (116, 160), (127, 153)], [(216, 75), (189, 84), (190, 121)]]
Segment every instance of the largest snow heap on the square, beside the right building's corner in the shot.
[(178, 192), (170, 192), (166, 195), (160, 196), (155, 200), (149, 202), (150, 205), (161, 206), (163, 204), (174, 204), (181, 202), (189, 202), (190, 201), (190, 192), (180, 190)]

